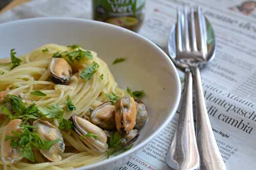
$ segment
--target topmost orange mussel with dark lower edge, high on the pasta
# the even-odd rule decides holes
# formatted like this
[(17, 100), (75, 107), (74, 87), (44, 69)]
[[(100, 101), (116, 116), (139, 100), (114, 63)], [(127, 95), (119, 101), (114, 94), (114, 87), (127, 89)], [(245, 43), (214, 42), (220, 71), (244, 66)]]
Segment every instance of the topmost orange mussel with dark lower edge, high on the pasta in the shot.
[(63, 58), (52, 58), (49, 65), (51, 80), (55, 84), (67, 85), (72, 76), (72, 68)]

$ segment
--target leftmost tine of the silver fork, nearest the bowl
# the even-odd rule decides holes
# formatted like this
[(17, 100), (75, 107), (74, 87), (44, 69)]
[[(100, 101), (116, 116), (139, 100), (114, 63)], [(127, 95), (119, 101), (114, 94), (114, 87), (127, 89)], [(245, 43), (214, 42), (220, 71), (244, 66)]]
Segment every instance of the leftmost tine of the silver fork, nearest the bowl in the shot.
[(182, 18), (179, 7), (177, 8), (176, 51), (182, 52)]

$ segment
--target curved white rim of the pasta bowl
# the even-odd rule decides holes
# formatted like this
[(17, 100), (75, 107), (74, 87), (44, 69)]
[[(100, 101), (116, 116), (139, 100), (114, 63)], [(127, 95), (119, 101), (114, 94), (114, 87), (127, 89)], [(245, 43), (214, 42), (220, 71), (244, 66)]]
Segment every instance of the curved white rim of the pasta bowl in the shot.
[(83, 23), (86, 23), (86, 24), (94, 23), (96, 25), (104, 26), (104, 27), (106, 27), (106, 29), (114, 29), (114, 30), (124, 31), (127, 34), (131, 34), (133, 36), (138, 37), (141, 41), (144, 41), (144, 42), (148, 43), (150, 46), (152, 46), (157, 51), (159, 51), (159, 53), (161, 54), (161, 59), (165, 59), (165, 61), (168, 62), (168, 65), (173, 68), (174, 73), (175, 73), (174, 78), (175, 78), (175, 80), (177, 80), (177, 81), (175, 81), (175, 85), (177, 86), (178, 90), (176, 91), (176, 94), (174, 95), (174, 98), (176, 98), (175, 102), (174, 102), (174, 107), (169, 112), (167, 118), (163, 121), (163, 124), (161, 126), (159, 126), (158, 128), (156, 128), (155, 132), (150, 134), (150, 136), (148, 136), (146, 139), (141, 141), (141, 143), (136, 144), (130, 150), (125, 151), (124, 153), (121, 153), (121, 154), (119, 154), (117, 156), (114, 156), (114, 157), (111, 157), (109, 159), (104, 159), (100, 162), (95, 162), (93, 164), (84, 165), (84, 166), (77, 167), (77, 168), (74, 168), (74, 169), (76, 169), (76, 170), (86, 170), (86, 169), (96, 168), (98, 166), (102, 166), (103, 164), (118, 161), (119, 159), (121, 159), (123, 157), (132, 155), (133, 153), (135, 153), (136, 151), (138, 151), (142, 147), (144, 147), (146, 144), (148, 144), (153, 138), (155, 138), (157, 136), (157, 134), (159, 134), (159, 132), (164, 129), (164, 127), (170, 122), (170, 120), (172, 120), (172, 118), (176, 114), (176, 111), (178, 109), (180, 99), (181, 99), (181, 82), (180, 82), (180, 78), (179, 78), (179, 75), (178, 75), (177, 68), (175, 67), (172, 60), (170, 60), (170, 58), (167, 56), (167, 54), (164, 53), (164, 51), (158, 45), (156, 45), (154, 42), (152, 42), (151, 40), (148, 40), (147, 38), (133, 32), (133, 31), (130, 31), (130, 30), (127, 30), (125, 28), (121, 28), (121, 27), (118, 27), (118, 26), (115, 26), (115, 25), (111, 25), (110, 23), (95, 21), (95, 20), (91, 20), (91, 19), (80, 19), (80, 18), (72, 18), (72, 17), (36, 17), (36, 18), (20, 19), (20, 20), (14, 20), (14, 21), (10, 21), (10, 22), (0, 23), (0, 29), (1, 29), (1, 27), (8, 27), (9, 25), (16, 25), (16, 24), (19, 25), (19, 24), (24, 24), (24, 23), (29, 23), (29, 22), (33, 23), (33, 22), (38, 22), (38, 21), (54, 21), (54, 20), (55, 21), (67, 21), (67, 22), (68, 21), (73, 21), (73, 22), (76, 21), (76, 22), (83, 22)]

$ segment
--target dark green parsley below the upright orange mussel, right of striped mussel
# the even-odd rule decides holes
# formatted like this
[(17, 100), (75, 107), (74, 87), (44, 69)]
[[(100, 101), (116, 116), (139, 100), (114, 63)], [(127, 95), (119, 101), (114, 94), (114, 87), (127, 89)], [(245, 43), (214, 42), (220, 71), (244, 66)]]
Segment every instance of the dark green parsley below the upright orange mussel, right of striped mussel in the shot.
[(133, 147), (133, 144), (131, 144), (129, 147), (123, 147), (122, 141), (121, 141), (121, 135), (118, 131), (116, 131), (108, 140), (109, 150), (106, 152), (108, 158), (112, 155), (116, 156), (116, 153), (122, 153), (127, 150), (130, 150)]

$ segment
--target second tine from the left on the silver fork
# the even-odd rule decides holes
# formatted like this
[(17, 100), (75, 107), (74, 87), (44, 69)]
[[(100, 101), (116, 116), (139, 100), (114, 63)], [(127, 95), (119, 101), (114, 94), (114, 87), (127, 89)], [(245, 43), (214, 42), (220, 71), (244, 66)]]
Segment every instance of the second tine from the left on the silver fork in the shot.
[(183, 36), (184, 36), (184, 48), (186, 52), (190, 52), (190, 44), (189, 44), (189, 33), (188, 33), (188, 12), (187, 7), (184, 7), (184, 29)]

